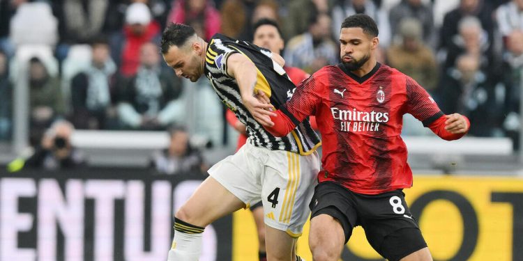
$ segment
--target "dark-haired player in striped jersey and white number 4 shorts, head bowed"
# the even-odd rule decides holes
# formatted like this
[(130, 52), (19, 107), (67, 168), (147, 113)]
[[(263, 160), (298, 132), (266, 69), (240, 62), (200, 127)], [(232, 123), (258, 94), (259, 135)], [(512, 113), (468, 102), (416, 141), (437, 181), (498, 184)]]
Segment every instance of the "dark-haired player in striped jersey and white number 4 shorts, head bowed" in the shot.
[[(294, 93), (278, 54), (250, 42), (216, 34), (210, 42), (194, 29), (170, 24), (162, 35), (162, 54), (178, 77), (197, 81), (205, 75), (220, 100), (246, 125), (247, 143), (209, 169), (209, 177), (176, 212), (169, 261), (199, 258), (204, 227), (221, 216), (261, 199), (268, 260), (300, 260), (296, 238), (308, 218), (321, 144), (308, 119), (282, 137), (261, 124)], [(253, 96), (263, 92), (271, 104)], [(250, 104), (245, 106), (244, 104)], [(256, 119), (256, 120), (255, 120)]]

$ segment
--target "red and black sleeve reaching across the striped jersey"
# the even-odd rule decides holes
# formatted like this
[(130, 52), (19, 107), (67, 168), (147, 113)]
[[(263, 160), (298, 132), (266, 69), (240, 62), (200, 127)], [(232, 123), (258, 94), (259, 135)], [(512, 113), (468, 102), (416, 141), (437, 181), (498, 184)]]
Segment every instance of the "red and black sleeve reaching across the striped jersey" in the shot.
[(324, 93), (324, 70), (319, 70), (296, 87), (291, 99), (271, 117), (274, 126), (267, 128), (274, 136), (285, 136), (308, 116), (314, 115)]

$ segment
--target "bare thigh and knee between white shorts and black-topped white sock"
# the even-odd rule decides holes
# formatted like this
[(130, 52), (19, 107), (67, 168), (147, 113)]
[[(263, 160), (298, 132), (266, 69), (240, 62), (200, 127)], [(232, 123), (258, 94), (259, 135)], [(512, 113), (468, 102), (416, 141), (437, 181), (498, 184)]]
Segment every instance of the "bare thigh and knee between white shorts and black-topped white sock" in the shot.
[(213, 177), (207, 177), (176, 212), (176, 218), (195, 226), (205, 227), (242, 207), (245, 207), (245, 203)]

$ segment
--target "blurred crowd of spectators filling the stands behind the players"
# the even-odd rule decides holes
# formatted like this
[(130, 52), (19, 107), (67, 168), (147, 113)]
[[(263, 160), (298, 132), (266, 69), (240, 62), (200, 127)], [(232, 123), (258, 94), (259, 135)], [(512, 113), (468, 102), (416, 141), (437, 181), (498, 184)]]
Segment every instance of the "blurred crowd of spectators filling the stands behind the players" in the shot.
[[(56, 120), (171, 134), (176, 125), (207, 147), (234, 143), (208, 81), (177, 79), (163, 63), (162, 29), (184, 23), (207, 40), (252, 40), (252, 24), (273, 19), (287, 65), (313, 73), (339, 63), (340, 24), (355, 13), (377, 22), (380, 63), (413, 77), (444, 112), (469, 117), (469, 135), (508, 136), (518, 146), (523, 0), (0, 1), (0, 140), (12, 135), (23, 81), (33, 146)], [(405, 134), (426, 133), (411, 118), (404, 125)], [(169, 153), (153, 161), (172, 170), (160, 157)]]

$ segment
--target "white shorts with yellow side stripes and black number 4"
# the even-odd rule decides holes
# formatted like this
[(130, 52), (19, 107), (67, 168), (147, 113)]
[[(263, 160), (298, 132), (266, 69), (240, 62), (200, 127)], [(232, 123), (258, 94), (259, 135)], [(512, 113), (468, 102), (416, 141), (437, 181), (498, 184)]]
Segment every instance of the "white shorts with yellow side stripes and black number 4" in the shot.
[(209, 169), (209, 175), (247, 207), (261, 199), (266, 225), (299, 237), (310, 214), (319, 166), (317, 152), (301, 156), (247, 142)]

